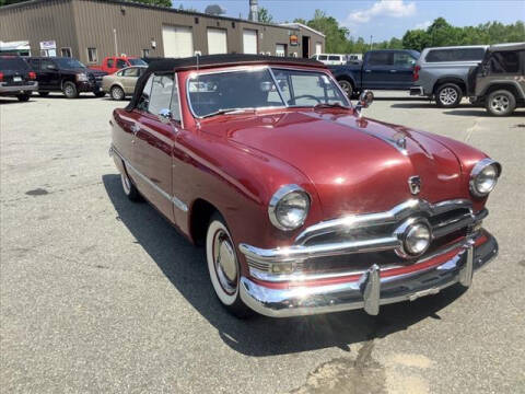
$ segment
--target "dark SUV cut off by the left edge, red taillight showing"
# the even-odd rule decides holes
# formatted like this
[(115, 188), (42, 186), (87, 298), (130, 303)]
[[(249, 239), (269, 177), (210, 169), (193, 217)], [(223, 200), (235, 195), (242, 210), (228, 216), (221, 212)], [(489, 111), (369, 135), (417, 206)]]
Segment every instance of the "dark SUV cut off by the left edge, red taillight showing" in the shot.
[(37, 88), (35, 72), (21, 57), (0, 56), (0, 96), (16, 96), (25, 102)]

